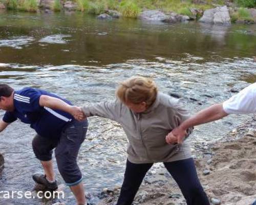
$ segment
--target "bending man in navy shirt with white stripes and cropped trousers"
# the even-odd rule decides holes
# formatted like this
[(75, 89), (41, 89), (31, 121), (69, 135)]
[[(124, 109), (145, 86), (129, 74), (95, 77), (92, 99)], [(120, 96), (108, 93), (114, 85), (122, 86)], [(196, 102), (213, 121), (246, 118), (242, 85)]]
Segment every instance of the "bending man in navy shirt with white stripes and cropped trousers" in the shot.
[(77, 204), (86, 204), (77, 155), (86, 137), (88, 121), (75, 119), (80, 110), (56, 94), (34, 88), (14, 91), (6, 84), (0, 84), (0, 109), (6, 111), (0, 120), (0, 132), (11, 122), (20, 119), (30, 124), (37, 133), (32, 147), (45, 174), (33, 175), (34, 181), (48, 190), (58, 188), (52, 165), (52, 153), (55, 148), (61, 176), (74, 193)]

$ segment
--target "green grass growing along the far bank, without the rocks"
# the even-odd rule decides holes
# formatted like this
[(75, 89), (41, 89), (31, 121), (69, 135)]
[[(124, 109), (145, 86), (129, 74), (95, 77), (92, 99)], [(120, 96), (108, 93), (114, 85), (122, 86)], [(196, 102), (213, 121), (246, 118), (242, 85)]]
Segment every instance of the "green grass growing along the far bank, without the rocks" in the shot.
[[(36, 0), (0, 0), (8, 9), (22, 11), (36, 11)], [(205, 0), (204, 4), (199, 4), (199, 0), (73, 0), (77, 3), (77, 10), (90, 14), (99, 15), (104, 13), (106, 9), (118, 10), (125, 17), (136, 18), (143, 9), (160, 9), (164, 12), (173, 11), (183, 15), (190, 15), (190, 8), (200, 9), (202, 11), (214, 8), (217, 5), (225, 5), (225, 0)], [(234, 5), (238, 7), (256, 7), (256, 0), (234, 0)], [(60, 0), (52, 3), (52, 10), (60, 11), (62, 8)], [(233, 14), (233, 20), (249, 18), (243, 10)]]

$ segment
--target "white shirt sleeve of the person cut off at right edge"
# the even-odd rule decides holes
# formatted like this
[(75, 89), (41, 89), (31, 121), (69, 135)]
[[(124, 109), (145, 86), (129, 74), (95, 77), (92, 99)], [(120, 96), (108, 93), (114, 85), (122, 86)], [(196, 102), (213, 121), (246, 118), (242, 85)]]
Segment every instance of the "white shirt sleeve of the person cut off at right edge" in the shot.
[(223, 109), (227, 114), (256, 113), (256, 83), (224, 101)]

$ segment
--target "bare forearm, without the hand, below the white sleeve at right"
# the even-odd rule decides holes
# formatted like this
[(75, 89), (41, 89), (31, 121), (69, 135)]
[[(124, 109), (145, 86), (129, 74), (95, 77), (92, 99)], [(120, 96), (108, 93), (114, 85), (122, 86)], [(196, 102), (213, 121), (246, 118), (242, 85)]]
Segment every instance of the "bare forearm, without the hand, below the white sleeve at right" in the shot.
[(193, 117), (190, 117), (189, 119), (183, 121), (180, 127), (186, 130), (190, 127), (221, 119), (227, 115), (228, 114), (225, 113), (225, 111), (223, 110), (222, 104), (213, 105), (198, 112)]

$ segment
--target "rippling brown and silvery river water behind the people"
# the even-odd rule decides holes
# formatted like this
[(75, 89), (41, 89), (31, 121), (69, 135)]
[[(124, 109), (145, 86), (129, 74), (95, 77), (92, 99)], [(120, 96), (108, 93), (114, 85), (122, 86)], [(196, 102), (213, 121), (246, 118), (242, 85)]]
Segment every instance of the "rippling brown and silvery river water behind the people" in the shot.
[[(119, 81), (141, 75), (160, 90), (180, 95), (191, 111), (220, 103), (255, 82), (256, 26), (198, 23), (152, 24), (133, 19), (98, 20), (81, 13), (0, 13), (0, 78), (15, 89), (36, 87), (76, 105), (114, 98)], [(3, 114), (4, 112), (1, 112)], [(246, 116), (228, 116), (196, 128), (194, 142), (211, 142)], [(34, 132), (15, 122), (1, 133), (6, 168), (0, 190), (33, 189), (41, 172), (31, 148)], [(86, 189), (98, 193), (122, 182), (126, 138), (110, 120), (90, 118), (79, 165)], [(56, 173), (56, 164), (54, 167)], [(57, 179), (63, 183), (57, 173)], [(75, 200), (64, 188), (65, 201)], [(94, 198), (97, 201), (96, 198)], [(0, 204), (39, 204), (38, 199), (1, 199)]]

